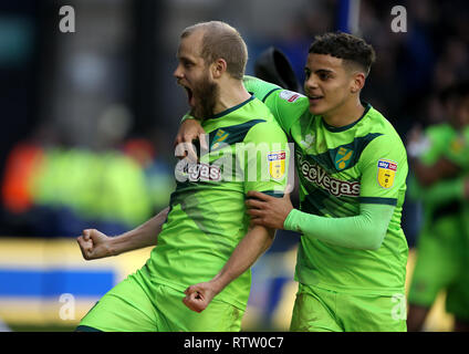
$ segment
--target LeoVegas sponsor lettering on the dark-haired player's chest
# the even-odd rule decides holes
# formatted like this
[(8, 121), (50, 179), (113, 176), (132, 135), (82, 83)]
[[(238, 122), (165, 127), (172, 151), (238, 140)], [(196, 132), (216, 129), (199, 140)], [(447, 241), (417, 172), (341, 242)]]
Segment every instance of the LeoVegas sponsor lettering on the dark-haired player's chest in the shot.
[(300, 168), (301, 175), (309, 181), (317, 185), (322, 189), (327, 190), (331, 195), (335, 197), (348, 196), (348, 197), (358, 197), (359, 196), (359, 183), (358, 181), (346, 181), (341, 180), (334, 177), (331, 177), (321, 166), (317, 164), (310, 164), (301, 154), (296, 152), (298, 166)]

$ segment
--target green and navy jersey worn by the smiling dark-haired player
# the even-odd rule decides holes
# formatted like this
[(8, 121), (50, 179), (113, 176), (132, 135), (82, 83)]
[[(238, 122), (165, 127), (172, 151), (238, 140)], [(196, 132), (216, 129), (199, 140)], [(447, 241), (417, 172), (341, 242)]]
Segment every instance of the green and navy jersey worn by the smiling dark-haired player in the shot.
[(336, 128), (312, 115), (308, 97), (299, 93), (275, 90), (252, 77), (244, 86), (265, 102), (294, 142), (302, 211), (341, 218), (358, 215), (361, 204), (395, 206), (378, 250), (302, 237), (295, 279), (351, 293), (404, 292), (408, 246), (400, 216), (408, 166), (406, 149), (392, 124), (366, 104), (358, 121)]

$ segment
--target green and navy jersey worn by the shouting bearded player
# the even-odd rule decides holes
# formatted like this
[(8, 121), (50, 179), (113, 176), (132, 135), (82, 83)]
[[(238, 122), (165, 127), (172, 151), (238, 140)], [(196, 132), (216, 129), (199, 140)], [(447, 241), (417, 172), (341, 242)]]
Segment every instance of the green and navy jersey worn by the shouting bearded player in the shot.
[[(286, 136), (258, 98), (201, 124), (209, 150), (177, 164), (170, 211), (146, 264), (153, 281), (180, 291), (211, 280), (246, 236), (247, 192), (282, 196), (286, 185)], [(250, 284), (249, 270), (215, 299), (244, 310)]]

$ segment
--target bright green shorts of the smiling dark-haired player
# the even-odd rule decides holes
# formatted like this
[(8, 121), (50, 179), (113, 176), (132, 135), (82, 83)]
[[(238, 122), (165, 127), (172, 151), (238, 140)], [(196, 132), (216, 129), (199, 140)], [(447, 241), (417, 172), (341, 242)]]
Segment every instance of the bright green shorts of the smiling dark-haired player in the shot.
[(345, 294), (299, 284), (290, 331), (406, 332), (406, 299)]

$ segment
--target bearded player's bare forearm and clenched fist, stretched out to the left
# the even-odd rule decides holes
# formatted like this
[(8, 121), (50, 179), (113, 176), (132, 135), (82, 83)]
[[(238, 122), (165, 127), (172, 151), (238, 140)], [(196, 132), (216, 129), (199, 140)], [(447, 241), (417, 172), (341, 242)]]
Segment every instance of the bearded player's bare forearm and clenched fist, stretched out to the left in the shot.
[(93, 260), (156, 246), (168, 211), (169, 207), (137, 228), (115, 237), (108, 237), (96, 229), (83, 230), (83, 235), (76, 239), (83, 258)]

